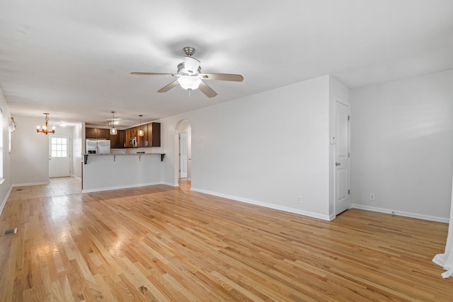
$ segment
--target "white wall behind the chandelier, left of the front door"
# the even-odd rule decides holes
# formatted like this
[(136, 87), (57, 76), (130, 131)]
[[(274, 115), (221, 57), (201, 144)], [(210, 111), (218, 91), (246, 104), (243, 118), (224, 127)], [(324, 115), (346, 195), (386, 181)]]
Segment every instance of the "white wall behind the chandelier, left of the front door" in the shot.
[(11, 146), (13, 185), (37, 185), (49, 182), (49, 135), (36, 132), (45, 117), (14, 117), (17, 122)]

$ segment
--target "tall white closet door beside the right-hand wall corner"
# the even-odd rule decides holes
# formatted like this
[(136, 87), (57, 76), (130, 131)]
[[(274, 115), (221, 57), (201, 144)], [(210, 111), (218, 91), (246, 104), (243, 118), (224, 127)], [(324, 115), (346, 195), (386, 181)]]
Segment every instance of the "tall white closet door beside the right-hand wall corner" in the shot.
[(335, 194), (336, 214), (350, 208), (349, 106), (336, 102)]

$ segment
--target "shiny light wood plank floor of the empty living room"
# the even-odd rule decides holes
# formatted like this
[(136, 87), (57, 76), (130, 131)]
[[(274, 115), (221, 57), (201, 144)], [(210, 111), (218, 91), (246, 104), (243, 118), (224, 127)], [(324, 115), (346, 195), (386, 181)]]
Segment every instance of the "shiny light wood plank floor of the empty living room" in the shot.
[(0, 301), (452, 301), (447, 224), (321, 221), (156, 185), (10, 199)]

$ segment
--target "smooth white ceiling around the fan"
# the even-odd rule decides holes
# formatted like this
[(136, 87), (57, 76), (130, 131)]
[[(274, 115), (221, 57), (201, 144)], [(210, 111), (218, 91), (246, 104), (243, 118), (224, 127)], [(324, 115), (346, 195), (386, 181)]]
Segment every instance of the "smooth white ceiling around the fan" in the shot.
[[(202, 71), (176, 87), (183, 47)], [(350, 88), (453, 68), (451, 0), (0, 1), (0, 87), (13, 116), (123, 127), (332, 74)]]

